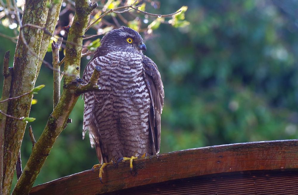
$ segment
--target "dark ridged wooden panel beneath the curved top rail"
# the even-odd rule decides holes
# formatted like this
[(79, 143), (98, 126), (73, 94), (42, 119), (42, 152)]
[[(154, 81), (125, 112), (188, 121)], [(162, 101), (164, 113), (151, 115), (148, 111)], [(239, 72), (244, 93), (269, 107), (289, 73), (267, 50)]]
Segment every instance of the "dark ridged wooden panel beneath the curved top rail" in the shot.
[(297, 195), (298, 169), (212, 174), (142, 185), (103, 195)]

